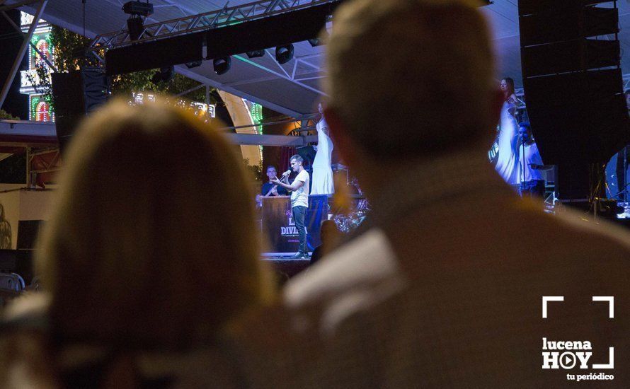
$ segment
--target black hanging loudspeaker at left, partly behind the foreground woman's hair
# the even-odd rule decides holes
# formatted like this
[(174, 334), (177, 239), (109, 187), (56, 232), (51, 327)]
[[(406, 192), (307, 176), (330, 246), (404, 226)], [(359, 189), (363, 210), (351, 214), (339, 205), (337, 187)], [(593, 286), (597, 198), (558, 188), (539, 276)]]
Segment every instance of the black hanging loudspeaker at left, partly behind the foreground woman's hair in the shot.
[(52, 96), (57, 140), (63, 153), (76, 125), (108, 99), (108, 79), (100, 68), (55, 72), (52, 73)]

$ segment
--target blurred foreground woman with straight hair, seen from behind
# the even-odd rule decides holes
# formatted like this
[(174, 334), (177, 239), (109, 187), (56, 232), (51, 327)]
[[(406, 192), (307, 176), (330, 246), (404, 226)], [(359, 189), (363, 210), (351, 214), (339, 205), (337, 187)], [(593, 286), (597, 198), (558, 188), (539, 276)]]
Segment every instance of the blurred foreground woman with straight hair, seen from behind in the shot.
[(205, 349), (270, 297), (231, 146), (189, 112), (118, 102), (64, 165), (37, 255), (47, 293), (4, 315), (0, 387), (173, 388), (202, 361), (221, 382)]

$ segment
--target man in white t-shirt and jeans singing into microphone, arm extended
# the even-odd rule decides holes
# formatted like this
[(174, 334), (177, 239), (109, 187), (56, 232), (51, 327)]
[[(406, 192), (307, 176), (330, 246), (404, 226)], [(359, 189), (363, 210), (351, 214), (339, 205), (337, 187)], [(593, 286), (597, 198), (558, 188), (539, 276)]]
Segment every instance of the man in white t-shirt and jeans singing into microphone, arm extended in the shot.
[(295, 228), (297, 228), (299, 235), (299, 248), (293, 257), (306, 258), (308, 256), (307, 229), (304, 228), (304, 219), (307, 217), (307, 209), (309, 208), (309, 184), (311, 179), (309, 178), (309, 172), (304, 170), (304, 159), (301, 156), (296, 154), (291, 157), (290, 161), (291, 170), (297, 172), (297, 176), (292, 184), (281, 182), (277, 178), (271, 180), (271, 182), (292, 191), (291, 209)]

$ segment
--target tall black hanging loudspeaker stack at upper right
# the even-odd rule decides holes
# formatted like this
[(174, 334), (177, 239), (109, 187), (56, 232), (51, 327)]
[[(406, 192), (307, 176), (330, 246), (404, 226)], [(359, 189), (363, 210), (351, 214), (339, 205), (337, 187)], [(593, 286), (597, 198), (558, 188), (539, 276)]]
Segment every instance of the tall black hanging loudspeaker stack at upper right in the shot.
[(590, 197), (595, 168), (630, 141), (622, 90), (617, 8), (595, 0), (520, 0), (527, 114), (560, 199)]

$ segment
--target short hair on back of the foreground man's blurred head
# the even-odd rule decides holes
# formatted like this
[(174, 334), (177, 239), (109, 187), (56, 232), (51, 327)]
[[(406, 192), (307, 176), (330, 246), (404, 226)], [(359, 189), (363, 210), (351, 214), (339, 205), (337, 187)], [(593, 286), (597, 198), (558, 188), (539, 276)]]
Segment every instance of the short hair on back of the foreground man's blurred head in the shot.
[(477, 1), (355, 0), (333, 16), (328, 108), (375, 158), (440, 153), (488, 132), (493, 53)]

